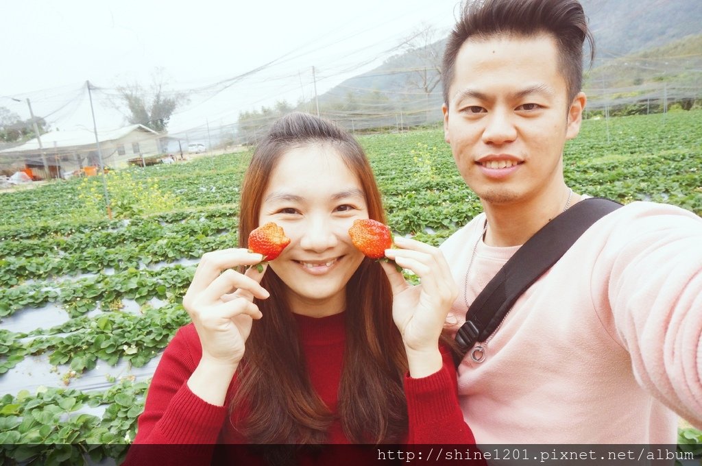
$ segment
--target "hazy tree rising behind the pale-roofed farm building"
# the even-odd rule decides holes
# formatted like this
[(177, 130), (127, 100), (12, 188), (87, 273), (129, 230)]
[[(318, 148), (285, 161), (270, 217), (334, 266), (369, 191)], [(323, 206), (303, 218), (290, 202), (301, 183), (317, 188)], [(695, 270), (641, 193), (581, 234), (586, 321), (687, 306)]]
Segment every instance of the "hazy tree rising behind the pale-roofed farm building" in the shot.
[(173, 112), (189, 101), (185, 93), (167, 91), (167, 86), (163, 70), (157, 69), (152, 74), (152, 84), (147, 89), (138, 82), (119, 86), (119, 102), (114, 106), (118, 109), (126, 106), (129, 112), (127, 120), (131, 124), (142, 124), (163, 133)]

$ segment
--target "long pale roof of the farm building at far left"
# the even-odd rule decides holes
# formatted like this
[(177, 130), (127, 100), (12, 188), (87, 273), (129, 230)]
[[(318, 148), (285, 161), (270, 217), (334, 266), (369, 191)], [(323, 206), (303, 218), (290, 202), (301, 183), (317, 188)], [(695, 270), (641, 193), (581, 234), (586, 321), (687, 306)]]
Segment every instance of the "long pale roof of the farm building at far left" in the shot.
[[(98, 140), (100, 142), (117, 140), (119, 138), (124, 138), (124, 136), (128, 135), (132, 131), (145, 131), (147, 133), (153, 133), (154, 136), (159, 135), (159, 133), (151, 128), (147, 128), (144, 125), (135, 124), (124, 126), (124, 128), (112, 129), (110, 131), (98, 131)], [(87, 129), (77, 129), (72, 131), (49, 131), (48, 133), (41, 135), (41, 145), (44, 147), (44, 150), (62, 147), (94, 146), (95, 133)], [(39, 151), (39, 141), (37, 138), (34, 138), (28, 140), (20, 146), (0, 150), (0, 154), (37, 151)]]

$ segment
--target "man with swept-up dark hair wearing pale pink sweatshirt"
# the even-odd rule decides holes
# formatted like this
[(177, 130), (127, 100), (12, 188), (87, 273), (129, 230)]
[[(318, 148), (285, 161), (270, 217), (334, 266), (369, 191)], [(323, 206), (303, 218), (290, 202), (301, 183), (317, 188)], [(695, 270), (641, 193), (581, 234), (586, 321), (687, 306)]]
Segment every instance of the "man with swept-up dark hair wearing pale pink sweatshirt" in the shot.
[[(576, 0), (469, 4), (449, 36), (445, 138), (484, 207), (442, 245), (459, 323), (519, 246), (585, 197), (562, 157), (586, 102), (585, 39)], [(702, 219), (662, 204), (592, 225), (463, 358), (477, 442), (675, 444), (677, 415), (701, 427), (701, 244)]]

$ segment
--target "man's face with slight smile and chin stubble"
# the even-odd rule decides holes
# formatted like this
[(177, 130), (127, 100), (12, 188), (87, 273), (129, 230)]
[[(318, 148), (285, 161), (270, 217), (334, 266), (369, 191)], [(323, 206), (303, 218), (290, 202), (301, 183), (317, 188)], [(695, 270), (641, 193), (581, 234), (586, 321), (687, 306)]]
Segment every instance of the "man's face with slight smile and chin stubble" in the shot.
[(559, 196), (585, 95), (567, 102), (552, 36), (469, 39), (453, 76), (444, 135), (468, 186), (488, 204)]

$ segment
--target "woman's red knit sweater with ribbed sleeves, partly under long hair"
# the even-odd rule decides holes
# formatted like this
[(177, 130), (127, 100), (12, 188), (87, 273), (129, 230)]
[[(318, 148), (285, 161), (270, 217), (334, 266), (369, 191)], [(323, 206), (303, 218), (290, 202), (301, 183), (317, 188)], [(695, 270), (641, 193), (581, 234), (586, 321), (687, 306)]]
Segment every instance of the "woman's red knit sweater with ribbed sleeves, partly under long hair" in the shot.
[[(343, 365), (345, 328), (343, 313), (315, 319), (296, 315), (300, 339), (310, 371), (312, 385), (331, 411), (336, 412), (338, 387)], [(212, 444), (246, 444), (244, 437), (226, 422), (234, 383), (230, 385), (225, 406), (214, 406), (200, 399), (187, 387), (187, 380), (202, 355), (199, 337), (192, 324), (178, 330), (166, 347), (147, 394), (145, 410), (139, 417), (134, 444), (187, 444), (177, 448), (179, 460), (187, 464), (210, 464)], [(463, 420), (458, 405), (456, 371), (451, 357), (444, 356), (444, 366), (425, 378), (406, 375), (404, 390), (409, 417), (408, 444), (475, 444), (472, 432)], [(338, 420), (329, 430), (330, 444), (348, 444)], [(228, 453), (243, 454), (246, 448), (232, 448)], [(171, 451), (175, 451), (171, 449)], [(146, 458), (155, 453), (149, 448), (131, 448), (124, 464), (152, 463)], [(197, 452), (197, 453), (196, 453)], [(164, 464), (161, 449), (158, 464)], [(185, 460), (186, 456), (192, 458)], [(169, 455), (170, 456), (170, 455)], [(197, 462), (194, 462), (196, 461)], [(232, 464), (255, 464), (251, 458), (232, 459)], [(310, 463), (312, 464), (312, 463)], [(326, 464), (319, 462), (314, 464)], [(338, 464), (338, 458), (334, 458)]]

